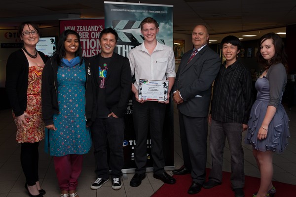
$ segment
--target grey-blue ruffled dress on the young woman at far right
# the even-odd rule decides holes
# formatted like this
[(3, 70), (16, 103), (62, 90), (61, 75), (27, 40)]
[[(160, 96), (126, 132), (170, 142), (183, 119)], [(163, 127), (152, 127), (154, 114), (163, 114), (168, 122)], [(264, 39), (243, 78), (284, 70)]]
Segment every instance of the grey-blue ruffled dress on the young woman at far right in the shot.
[(245, 143), (253, 145), (253, 148), (259, 151), (271, 150), (281, 153), (288, 145), (287, 138), (290, 137), (289, 118), (280, 101), (276, 113), (268, 126), (267, 137), (263, 140), (257, 139), (257, 134), (265, 117), (270, 100), (268, 79), (265, 76), (259, 78), (255, 83), (255, 88), (258, 94), (251, 109), (248, 122), (249, 129), (245, 137)]

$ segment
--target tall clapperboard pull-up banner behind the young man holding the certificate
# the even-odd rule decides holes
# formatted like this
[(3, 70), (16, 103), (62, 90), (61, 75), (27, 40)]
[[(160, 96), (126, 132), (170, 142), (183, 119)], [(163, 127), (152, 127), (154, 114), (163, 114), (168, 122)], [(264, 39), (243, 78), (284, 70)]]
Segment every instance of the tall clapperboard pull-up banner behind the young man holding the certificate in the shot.
[[(127, 3), (105, 1), (105, 27), (113, 28), (118, 33), (118, 41), (115, 52), (127, 57), (129, 51), (144, 41), (140, 31), (140, 23), (146, 17), (154, 18), (159, 24), (157, 40), (165, 45), (173, 47), (173, 5), (158, 5), (146, 3)], [(133, 172), (136, 168), (135, 145), (136, 136), (133, 126), (132, 99), (129, 100), (125, 112), (124, 130), (124, 173)], [(173, 102), (166, 105), (166, 117), (163, 128), (163, 153), (165, 157), (165, 169), (174, 168), (174, 124)], [(152, 171), (153, 158), (151, 156), (151, 138), (147, 138), (147, 171)]]

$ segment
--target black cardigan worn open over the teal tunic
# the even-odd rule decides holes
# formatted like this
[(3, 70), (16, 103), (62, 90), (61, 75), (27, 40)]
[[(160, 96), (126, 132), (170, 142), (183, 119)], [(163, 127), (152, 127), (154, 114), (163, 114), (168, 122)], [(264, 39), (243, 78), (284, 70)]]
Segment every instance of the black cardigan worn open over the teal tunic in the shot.
[[(90, 120), (95, 120), (93, 115), (93, 108), (96, 108), (96, 102), (93, 95), (93, 77), (90, 74), (89, 62), (84, 59), (85, 71), (86, 71), (86, 84), (85, 84), (85, 116), (88, 119), (87, 125), (91, 124)], [(42, 72), (42, 116), (45, 126), (53, 125), (53, 114), (59, 114), (58, 104), (58, 64), (55, 58), (50, 58), (45, 64)]]

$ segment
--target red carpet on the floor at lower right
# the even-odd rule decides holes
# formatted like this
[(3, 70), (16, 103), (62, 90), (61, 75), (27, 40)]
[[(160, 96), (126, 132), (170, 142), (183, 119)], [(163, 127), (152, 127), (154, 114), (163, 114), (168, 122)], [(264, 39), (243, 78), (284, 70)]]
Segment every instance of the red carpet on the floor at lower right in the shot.
[[(207, 169), (207, 174), (209, 174), (209, 169)], [(234, 197), (234, 193), (231, 190), (230, 183), (230, 173), (223, 172), (222, 184), (216, 186), (212, 189), (204, 189), (196, 195), (187, 194), (192, 179), (190, 174), (186, 175), (174, 175), (176, 179), (176, 184), (169, 185), (164, 184), (161, 186), (152, 197)], [(291, 185), (287, 183), (281, 183), (273, 181), (273, 186), (276, 188), (275, 197), (295, 197), (296, 196), (296, 185)], [(245, 197), (252, 197), (253, 193), (258, 191), (260, 185), (260, 179), (246, 176), (245, 177)]]

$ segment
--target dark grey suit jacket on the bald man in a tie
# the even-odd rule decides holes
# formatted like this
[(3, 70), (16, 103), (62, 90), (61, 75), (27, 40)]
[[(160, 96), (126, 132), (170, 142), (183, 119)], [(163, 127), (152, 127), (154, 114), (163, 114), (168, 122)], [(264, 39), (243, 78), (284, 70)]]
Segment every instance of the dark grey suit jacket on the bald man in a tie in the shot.
[(212, 83), (219, 72), (221, 59), (208, 44), (187, 64), (191, 53), (192, 50), (184, 54), (176, 74), (173, 91), (179, 90), (184, 100), (177, 108), (186, 116), (207, 117)]

